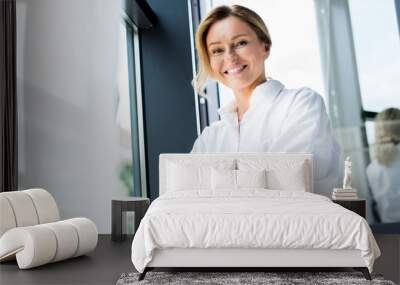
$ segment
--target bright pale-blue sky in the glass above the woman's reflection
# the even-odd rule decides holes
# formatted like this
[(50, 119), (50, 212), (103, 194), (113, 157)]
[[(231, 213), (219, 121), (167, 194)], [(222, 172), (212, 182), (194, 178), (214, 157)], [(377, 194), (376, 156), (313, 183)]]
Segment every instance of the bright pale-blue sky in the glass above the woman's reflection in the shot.
[(363, 107), (375, 112), (400, 107), (400, 41), (395, 3), (348, 3)]

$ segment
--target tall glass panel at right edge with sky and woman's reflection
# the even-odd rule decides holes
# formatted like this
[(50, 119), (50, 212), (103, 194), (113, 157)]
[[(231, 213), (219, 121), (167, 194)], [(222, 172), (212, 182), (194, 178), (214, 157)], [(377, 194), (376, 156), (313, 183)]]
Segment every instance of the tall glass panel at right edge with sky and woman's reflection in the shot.
[[(348, 1), (362, 105), (381, 112), (365, 122), (371, 161), (365, 170), (375, 223), (400, 230), (400, 41), (394, 1)], [(376, 13), (379, 11), (379, 13)], [(386, 111), (384, 111), (386, 110)], [(383, 112), (382, 112), (383, 111)], [(370, 219), (369, 219), (370, 220)], [(371, 221), (371, 220), (370, 220)]]

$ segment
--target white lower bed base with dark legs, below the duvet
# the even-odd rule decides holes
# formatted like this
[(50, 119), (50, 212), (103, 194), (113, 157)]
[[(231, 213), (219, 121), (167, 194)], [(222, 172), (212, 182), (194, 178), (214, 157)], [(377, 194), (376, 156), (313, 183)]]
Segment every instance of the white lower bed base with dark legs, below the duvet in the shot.
[[(191, 269), (193, 271), (270, 271), (279, 269), (318, 269), (318, 271), (353, 268), (371, 280), (359, 250), (329, 249), (183, 249), (156, 250), (152, 261), (139, 275), (144, 279), (154, 269)], [(183, 270), (183, 271), (184, 271)]]

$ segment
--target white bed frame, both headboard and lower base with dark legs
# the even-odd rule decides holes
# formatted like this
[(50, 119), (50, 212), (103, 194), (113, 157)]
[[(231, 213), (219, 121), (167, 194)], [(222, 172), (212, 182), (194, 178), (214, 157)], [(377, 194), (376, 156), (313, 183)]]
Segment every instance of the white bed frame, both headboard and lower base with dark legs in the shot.
[[(267, 158), (272, 160), (304, 160), (306, 167), (306, 191), (313, 191), (312, 155), (308, 153), (213, 153), (213, 154), (161, 154), (159, 161), (160, 195), (166, 191), (166, 167), (169, 161), (190, 159), (220, 158)], [(337, 269), (353, 268), (361, 271), (367, 280), (371, 276), (359, 250), (330, 249), (254, 249), (254, 248), (169, 248), (158, 249), (139, 280), (154, 269), (202, 269), (201, 271), (265, 271), (266, 269)], [(321, 270), (322, 271), (322, 270)]]

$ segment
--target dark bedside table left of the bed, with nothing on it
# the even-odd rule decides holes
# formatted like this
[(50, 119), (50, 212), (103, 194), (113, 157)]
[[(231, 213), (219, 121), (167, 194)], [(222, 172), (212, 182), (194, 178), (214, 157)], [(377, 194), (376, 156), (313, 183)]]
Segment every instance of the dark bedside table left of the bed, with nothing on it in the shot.
[[(124, 212), (135, 212), (135, 232), (137, 231), (140, 221), (146, 214), (150, 206), (149, 198), (142, 197), (121, 197), (113, 198), (111, 201), (111, 240), (123, 241), (126, 235), (122, 234)], [(135, 234), (135, 233), (133, 233)]]

